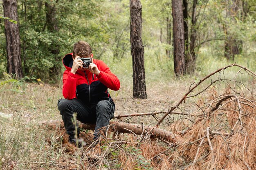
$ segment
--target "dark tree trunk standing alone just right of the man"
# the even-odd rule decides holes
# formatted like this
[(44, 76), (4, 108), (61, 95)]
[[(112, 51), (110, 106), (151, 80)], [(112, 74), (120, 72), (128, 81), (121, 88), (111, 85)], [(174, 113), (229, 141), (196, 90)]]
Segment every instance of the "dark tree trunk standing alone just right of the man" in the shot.
[(146, 99), (146, 79), (144, 68), (144, 47), (141, 40), (141, 3), (130, 0), (130, 43), (132, 53), (133, 97)]

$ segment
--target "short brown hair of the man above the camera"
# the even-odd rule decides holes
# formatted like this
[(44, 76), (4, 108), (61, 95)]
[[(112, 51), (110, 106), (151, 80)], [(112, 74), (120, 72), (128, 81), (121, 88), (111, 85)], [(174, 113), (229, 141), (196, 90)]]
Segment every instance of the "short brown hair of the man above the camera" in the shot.
[(73, 57), (90, 57), (92, 54), (92, 47), (85, 41), (79, 41), (74, 44)]

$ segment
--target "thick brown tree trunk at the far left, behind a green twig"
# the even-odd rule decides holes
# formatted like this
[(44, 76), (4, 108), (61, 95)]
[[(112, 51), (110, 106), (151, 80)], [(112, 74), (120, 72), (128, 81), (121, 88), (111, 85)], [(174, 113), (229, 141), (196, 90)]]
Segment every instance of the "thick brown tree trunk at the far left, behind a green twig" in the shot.
[[(3, 0), (4, 17), (18, 21), (17, 0)], [(23, 77), (19, 25), (4, 20), (7, 48), (7, 72), (17, 79)]]

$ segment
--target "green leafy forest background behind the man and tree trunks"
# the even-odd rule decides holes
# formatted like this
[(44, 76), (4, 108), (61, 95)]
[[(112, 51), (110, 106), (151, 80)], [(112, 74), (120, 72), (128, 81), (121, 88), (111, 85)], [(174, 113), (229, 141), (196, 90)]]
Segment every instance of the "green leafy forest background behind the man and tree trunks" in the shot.
[[(196, 27), (195, 75), (205, 75), (216, 68), (239, 63), (255, 66), (255, 0), (200, 0), (197, 22), (192, 25), (193, 1), (188, 1), (188, 34)], [(45, 6), (48, 4), (48, 9)], [(145, 71), (150, 77), (163, 74), (173, 78), (173, 38), (171, 2), (142, 0), (142, 41)], [(48, 11), (47, 11), (48, 10)], [(232, 11), (233, 10), (233, 11)], [(0, 7), (0, 13), (3, 8)], [(78, 40), (91, 44), (94, 57), (105, 61), (117, 75), (132, 75), (130, 53), (129, 1), (93, 0), (18, 1), (22, 69), (25, 79), (55, 83), (64, 67), (61, 59), (72, 52)], [(49, 18), (52, 18), (51, 20)], [(0, 20), (0, 77), (6, 72), (4, 20)], [(235, 40), (235, 57), (225, 57), (225, 43)], [(125, 73), (125, 74), (124, 74)]]

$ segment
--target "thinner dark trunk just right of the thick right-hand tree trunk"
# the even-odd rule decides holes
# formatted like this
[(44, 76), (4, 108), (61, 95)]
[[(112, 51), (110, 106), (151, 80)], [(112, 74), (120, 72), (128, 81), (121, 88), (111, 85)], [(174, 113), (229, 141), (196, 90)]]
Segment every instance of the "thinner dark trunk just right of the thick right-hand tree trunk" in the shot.
[(196, 55), (195, 55), (195, 41), (197, 39), (197, 30), (196, 30), (196, 6), (198, 0), (193, 0), (193, 7), (192, 7), (192, 18), (191, 18), (191, 34), (190, 34), (190, 44), (189, 44), (189, 64), (187, 69), (187, 73), (194, 73), (195, 72), (195, 62), (196, 62)]

